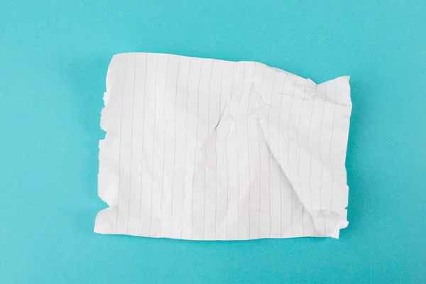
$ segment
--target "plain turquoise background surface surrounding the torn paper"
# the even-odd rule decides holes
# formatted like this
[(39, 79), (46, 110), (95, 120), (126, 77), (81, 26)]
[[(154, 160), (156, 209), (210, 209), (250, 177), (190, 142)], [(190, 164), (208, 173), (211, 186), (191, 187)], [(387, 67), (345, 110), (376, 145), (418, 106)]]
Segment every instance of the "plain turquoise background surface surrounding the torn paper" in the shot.
[[(426, 283), (425, 11), (422, 0), (4, 1), (0, 283)], [(341, 239), (92, 233), (106, 207), (107, 67), (133, 51), (351, 75)]]

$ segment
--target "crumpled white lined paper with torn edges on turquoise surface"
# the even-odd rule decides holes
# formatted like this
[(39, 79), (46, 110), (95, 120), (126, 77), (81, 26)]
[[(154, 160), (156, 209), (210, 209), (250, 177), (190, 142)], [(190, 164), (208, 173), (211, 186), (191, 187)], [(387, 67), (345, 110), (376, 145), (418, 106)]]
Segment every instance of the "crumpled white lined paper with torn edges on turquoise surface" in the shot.
[(102, 234), (192, 240), (339, 237), (349, 77), (258, 62), (115, 55), (99, 142)]

